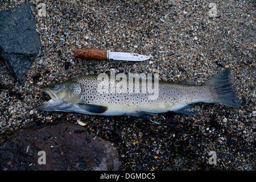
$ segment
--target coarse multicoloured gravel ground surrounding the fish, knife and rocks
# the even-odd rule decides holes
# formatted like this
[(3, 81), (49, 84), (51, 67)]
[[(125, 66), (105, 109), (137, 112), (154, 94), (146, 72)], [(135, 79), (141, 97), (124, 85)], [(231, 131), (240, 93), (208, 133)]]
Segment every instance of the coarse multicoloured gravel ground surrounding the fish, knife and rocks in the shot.
[[(7, 10), (25, 1), (1, 1)], [(44, 56), (32, 63), (25, 85), (14, 82), (0, 60), (0, 141), (30, 122), (86, 123), (98, 137), (119, 147), (120, 170), (255, 170), (254, 1), (39, 1), (32, 13)], [(102, 48), (151, 56), (140, 63), (73, 59), (73, 48)], [(151, 62), (150, 62), (151, 61)], [(207, 81), (224, 68), (239, 109), (197, 104), (199, 114), (165, 113), (154, 119), (96, 117), (43, 112), (48, 99), (39, 85), (79, 75), (159, 73), (160, 80)], [(32, 111), (32, 112), (31, 112)], [(33, 113), (33, 114), (31, 114)], [(210, 151), (217, 164), (208, 163)]]

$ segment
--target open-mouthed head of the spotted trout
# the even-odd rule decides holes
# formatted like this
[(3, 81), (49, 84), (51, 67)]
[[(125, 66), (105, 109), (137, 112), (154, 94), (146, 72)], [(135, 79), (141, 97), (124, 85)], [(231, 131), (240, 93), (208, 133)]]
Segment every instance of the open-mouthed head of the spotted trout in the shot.
[(77, 82), (60, 82), (42, 86), (40, 90), (47, 93), (51, 100), (44, 102), (37, 108), (46, 111), (65, 111), (78, 103), (81, 97), (81, 87)]

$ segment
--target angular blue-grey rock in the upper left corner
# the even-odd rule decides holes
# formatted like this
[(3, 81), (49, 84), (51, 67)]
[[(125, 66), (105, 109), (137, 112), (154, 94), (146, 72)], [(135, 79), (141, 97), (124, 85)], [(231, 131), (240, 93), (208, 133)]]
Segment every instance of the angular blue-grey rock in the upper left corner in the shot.
[(42, 44), (34, 26), (32, 3), (0, 11), (0, 57), (19, 82), (23, 83), (31, 63), (42, 55)]

